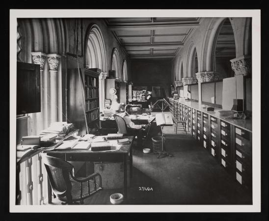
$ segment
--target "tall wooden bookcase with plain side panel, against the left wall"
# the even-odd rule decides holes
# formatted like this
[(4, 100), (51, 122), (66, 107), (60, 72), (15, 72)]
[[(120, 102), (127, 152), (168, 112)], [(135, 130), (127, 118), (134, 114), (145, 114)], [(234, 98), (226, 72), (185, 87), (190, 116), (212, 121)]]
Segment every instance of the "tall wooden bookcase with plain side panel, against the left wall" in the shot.
[[(80, 77), (81, 74), (81, 77)], [(81, 82), (82, 78), (82, 82)], [(99, 74), (87, 69), (68, 69), (67, 118), (80, 129), (81, 134), (99, 125)]]

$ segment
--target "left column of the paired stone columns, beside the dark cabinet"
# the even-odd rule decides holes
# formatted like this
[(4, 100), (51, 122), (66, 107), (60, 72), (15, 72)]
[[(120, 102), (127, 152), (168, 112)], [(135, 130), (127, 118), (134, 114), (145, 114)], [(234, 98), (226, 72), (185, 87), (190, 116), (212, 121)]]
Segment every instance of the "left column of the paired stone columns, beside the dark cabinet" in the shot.
[(32, 52), (32, 63), (33, 64), (39, 64), (40, 65), (40, 112), (36, 113), (36, 133), (39, 134), (41, 130), (44, 129), (43, 124), (43, 117), (44, 117), (44, 97), (47, 96), (46, 93), (44, 93), (44, 87), (43, 87), (43, 68), (44, 63), (46, 61), (46, 54), (42, 52)]

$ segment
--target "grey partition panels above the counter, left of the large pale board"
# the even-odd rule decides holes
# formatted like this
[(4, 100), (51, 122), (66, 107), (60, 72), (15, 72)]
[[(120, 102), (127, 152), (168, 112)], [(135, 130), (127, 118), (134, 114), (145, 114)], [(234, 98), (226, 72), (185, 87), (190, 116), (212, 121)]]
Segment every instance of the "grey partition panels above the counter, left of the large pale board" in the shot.
[(222, 80), (201, 83), (202, 104), (222, 108)]

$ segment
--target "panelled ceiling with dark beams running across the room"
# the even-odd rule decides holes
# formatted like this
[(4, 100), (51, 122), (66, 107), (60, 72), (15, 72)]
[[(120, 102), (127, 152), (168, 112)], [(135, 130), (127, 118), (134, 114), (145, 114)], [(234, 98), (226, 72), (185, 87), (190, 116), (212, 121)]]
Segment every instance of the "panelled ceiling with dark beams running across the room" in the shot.
[(131, 58), (173, 58), (201, 18), (107, 18), (106, 23)]

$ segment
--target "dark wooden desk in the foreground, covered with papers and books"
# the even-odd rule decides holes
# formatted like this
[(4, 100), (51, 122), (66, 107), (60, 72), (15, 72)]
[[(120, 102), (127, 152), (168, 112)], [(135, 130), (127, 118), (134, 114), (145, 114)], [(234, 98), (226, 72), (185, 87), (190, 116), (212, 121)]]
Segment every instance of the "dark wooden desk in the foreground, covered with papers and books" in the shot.
[[(104, 137), (104, 136), (102, 136)], [(130, 144), (121, 144), (118, 150), (113, 151), (85, 151), (85, 150), (53, 150), (44, 151), (49, 156), (60, 158), (64, 161), (81, 161), (81, 162), (122, 162), (123, 163), (123, 185), (124, 185), (124, 199), (128, 200), (127, 191), (127, 159), (130, 156), (130, 178), (132, 178), (132, 167), (133, 167), (133, 154), (132, 144), (134, 141), (133, 136), (125, 136), (131, 140)], [(51, 189), (51, 186), (48, 186)], [(49, 190), (50, 193), (51, 190)], [(50, 200), (49, 203), (52, 201)]]

